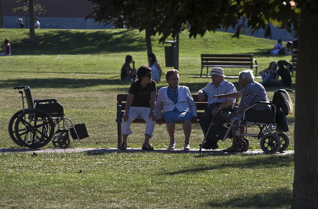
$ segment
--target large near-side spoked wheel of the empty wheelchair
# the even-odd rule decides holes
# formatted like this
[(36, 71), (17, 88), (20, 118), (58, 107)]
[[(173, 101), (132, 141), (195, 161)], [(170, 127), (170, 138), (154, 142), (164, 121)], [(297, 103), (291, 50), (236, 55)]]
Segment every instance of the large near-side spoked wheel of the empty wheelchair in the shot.
[(47, 112), (37, 108), (28, 109), (18, 116), (14, 133), (25, 147), (43, 147), (53, 137), (54, 122)]

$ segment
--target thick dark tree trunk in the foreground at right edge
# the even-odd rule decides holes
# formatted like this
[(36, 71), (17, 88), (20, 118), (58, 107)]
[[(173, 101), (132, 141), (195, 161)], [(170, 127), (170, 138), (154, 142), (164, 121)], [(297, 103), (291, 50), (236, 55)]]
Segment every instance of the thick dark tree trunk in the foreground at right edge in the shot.
[(295, 174), (292, 208), (318, 208), (318, 9), (303, 1), (295, 99)]

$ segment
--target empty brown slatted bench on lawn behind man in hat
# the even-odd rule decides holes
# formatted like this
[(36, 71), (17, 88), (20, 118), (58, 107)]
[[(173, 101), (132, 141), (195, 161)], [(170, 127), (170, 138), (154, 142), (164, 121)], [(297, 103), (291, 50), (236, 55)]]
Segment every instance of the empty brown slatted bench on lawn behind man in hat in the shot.
[(250, 69), (255, 67), (255, 76), (257, 75), (257, 61), (253, 59), (252, 54), (201, 54), (200, 76), (204, 67), (206, 67), (206, 76), (208, 76), (209, 67), (248, 67)]

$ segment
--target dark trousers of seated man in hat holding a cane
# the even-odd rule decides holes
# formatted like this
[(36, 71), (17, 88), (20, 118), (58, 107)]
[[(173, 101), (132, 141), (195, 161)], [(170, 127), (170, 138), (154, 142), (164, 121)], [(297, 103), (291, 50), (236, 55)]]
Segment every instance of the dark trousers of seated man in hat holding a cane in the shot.
[[(209, 129), (210, 123), (212, 121), (212, 109), (214, 109), (217, 105), (210, 105), (208, 108), (205, 109), (204, 113), (200, 116), (199, 123), (201, 126), (201, 129), (204, 133), (204, 136), (206, 132)], [(233, 116), (233, 108), (232, 106), (223, 109), (222, 113), (219, 113), (215, 116), (213, 120), (213, 125), (211, 126), (211, 129), (208, 133), (208, 136), (206, 137), (206, 142), (210, 145), (214, 145), (218, 143), (218, 137), (216, 137), (216, 134), (218, 132), (218, 129), (226, 122), (229, 121)]]

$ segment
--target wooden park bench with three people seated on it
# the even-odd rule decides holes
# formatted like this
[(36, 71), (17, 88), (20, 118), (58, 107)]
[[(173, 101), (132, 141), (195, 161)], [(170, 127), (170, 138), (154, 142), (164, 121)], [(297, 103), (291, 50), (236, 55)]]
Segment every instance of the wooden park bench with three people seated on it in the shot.
[[(127, 94), (118, 94), (117, 95), (117, 147), (119, 148), (121, 146), (121, 118), (124, 115), (125, 112), (125, 104), (127, 100)], [(158, 96), (158, 95), (157, 95)], [(208, 101), (198, 101), (198, 95), (197, 94), (191, 94), (193, 100), (195, 101), (197, 105), (197, 121), (192, 121), (192, 124), (199, 124), (199, 119), (204, 110), (208, 107)], [(156, 123), (165, 123), (165, 120), (157, 120)], [(132, 123), (146, 123), (144, 120), (134, 120)], [(182, 124), (181, 122), (177, 124)]]

